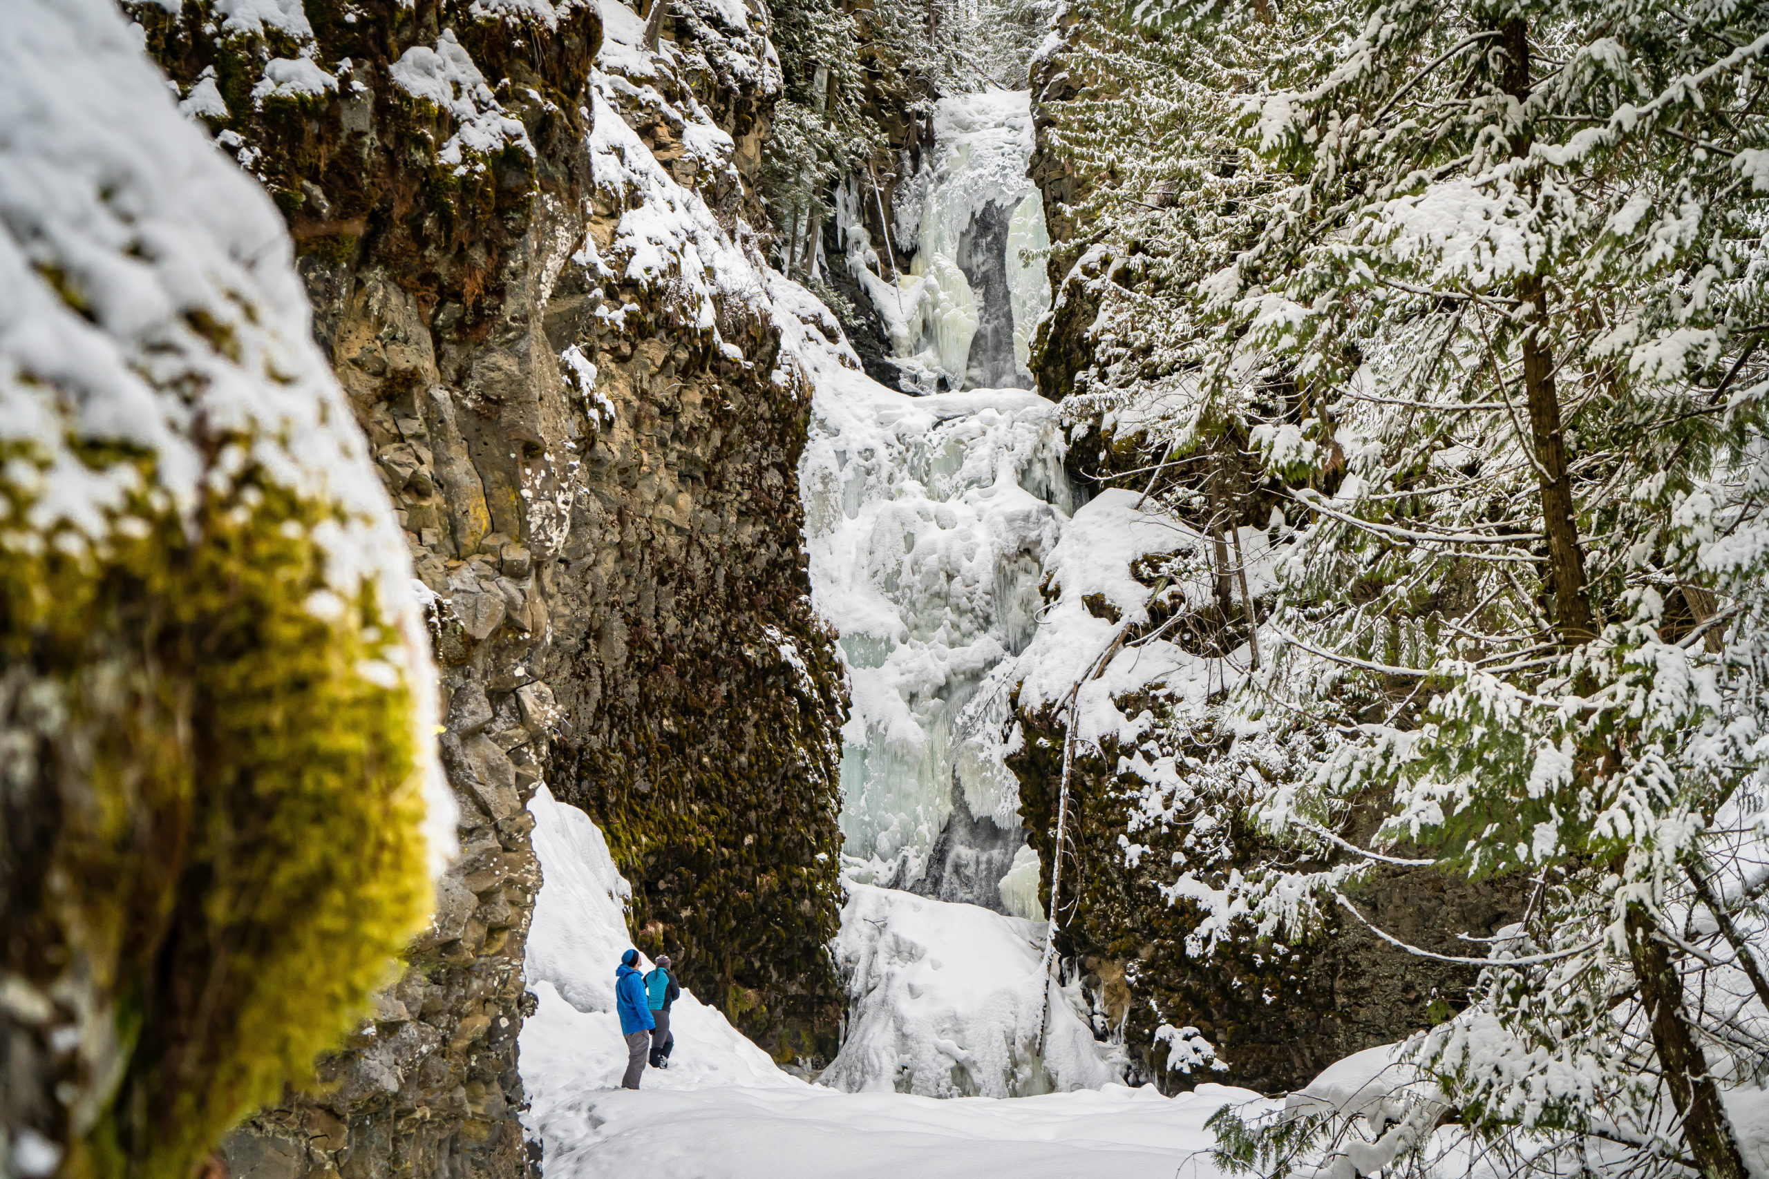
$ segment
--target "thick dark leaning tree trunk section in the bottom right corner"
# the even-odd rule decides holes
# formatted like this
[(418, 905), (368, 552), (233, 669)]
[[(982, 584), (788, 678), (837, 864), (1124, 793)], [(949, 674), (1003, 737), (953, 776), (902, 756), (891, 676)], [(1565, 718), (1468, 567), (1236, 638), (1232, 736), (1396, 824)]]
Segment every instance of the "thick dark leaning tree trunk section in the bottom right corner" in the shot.
[(1707, 1071), (1702, 1045), (1689, 1031), (1682, 1009), (1682, 979), (1665, 942), (1652, 937), (1645, 909), (1627, 910), (1627, 956), (1633, 960), (1640, 999), (1652, 1020), (1652, 1046), (1670, 1087), (1670, 1099), (1682, 1122), (1682, 1144), (1707, 1179), (1748, 1179), (1744, 1156), (1732, 1133), (1732, 1121), (1719, 1103), (1719, 1085)]

